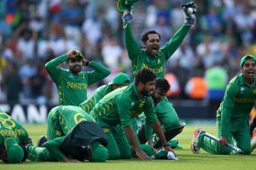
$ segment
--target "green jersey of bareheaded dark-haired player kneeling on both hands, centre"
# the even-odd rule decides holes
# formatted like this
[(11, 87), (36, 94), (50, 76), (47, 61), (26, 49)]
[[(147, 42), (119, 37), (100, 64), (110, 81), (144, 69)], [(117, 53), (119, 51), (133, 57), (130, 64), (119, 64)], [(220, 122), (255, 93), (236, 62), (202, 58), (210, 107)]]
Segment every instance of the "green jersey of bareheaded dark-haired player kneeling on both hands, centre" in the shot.
[(157, 120), (154, 111), (153, 99), (151, 97), (139, 98), (134, 83), (118, 88), (104, 96), (90, 112), (102, 127), (117, 126), (129, 127), (132, 118), (144, 112), (148, 122)]

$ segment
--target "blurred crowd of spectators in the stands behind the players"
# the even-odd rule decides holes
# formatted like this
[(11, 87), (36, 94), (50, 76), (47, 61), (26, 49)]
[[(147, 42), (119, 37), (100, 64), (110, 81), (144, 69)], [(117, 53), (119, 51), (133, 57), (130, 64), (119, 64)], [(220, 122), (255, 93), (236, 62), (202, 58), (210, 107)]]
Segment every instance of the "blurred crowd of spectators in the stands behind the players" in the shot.
[[(89, 87), (89, 96), (97, 87), (111, 81), (116, 72), (124, 71), (131, 76), (122, 14), (116, 9), (116, 2), (0, 1), (0, 102), (57, 104), (57, 90), (44, 64), (73, 48), (112, 71), (111, 76)], [(160, 33), (164, 45), (183, 25), (181, 5), (187, 2), (139, 0), (133, 10), (136, 20), (132, 21), (137, 41), (140, 42), (143, 31), (154, 29)], [(166, 64), (171, 99), (209, 98), (208, 88), (224, 88), (240, 72), (241, 56), (256, 55), (255, 0), (195, 0), (195, 3), (196, 26)], [(67, 67), (65, 63), (62, 66)], [(209, 76), (211, 72), (213, 76)], [(198, 87), (203, 91), (196, 96), (193, 89), (198, 77), (201, 78)], [(213, 85), (214, 82), (218, 84)]]

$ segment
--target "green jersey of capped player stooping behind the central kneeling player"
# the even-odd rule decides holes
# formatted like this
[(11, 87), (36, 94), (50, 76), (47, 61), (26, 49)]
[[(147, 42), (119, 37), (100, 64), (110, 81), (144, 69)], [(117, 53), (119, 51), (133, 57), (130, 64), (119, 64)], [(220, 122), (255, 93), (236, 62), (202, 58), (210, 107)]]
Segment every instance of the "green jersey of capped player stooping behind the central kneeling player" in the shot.
[(81, 103), (80, 107), (87, 113), (90, 113), (90, 111), (92, 111), (96, 103), (98, 103), (100, 99), (102, 99), (105, 95), (109, 94), (110, 92), (112, 92), (112, 86), (103, 85), (100, 88), (97, 88), (89, 99), (86, 99), (83, 103)]

